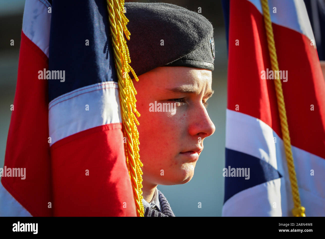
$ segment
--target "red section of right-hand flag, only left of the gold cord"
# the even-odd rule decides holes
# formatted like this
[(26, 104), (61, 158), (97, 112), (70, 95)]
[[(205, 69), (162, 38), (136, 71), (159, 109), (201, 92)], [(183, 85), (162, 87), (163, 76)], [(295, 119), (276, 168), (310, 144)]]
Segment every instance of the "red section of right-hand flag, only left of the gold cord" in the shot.
[(229, 20), (227, 108), (238, 105), (239, 112), (261, 119), (281, 136), (274, 83), (261, 80), (260, 72), (271, 68), (263, 17), (248, 1), (230, 1)]

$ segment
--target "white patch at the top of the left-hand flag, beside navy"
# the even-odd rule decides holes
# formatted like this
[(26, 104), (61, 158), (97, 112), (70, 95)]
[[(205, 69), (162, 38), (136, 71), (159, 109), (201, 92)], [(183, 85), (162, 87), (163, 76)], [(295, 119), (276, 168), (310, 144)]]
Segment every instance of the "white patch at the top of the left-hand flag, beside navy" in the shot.
[(51, 13), (47, 12), (47, 7), (50, 5), (44, 0), (26, 1), (22, 31), (48, 57)]

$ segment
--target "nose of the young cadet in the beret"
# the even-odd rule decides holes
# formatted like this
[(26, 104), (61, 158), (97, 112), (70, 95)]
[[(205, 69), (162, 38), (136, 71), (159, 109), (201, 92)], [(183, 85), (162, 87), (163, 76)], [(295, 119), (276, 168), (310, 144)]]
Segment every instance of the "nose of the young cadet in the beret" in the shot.
[(215, 131), (215, 126), (211, 121), (209, 114), (203, 104), (199, 109), (193, 110), (191, 123), (189, 124), (189, 133), (192, 136), (201, 137), (204, 139), (212, 135)]

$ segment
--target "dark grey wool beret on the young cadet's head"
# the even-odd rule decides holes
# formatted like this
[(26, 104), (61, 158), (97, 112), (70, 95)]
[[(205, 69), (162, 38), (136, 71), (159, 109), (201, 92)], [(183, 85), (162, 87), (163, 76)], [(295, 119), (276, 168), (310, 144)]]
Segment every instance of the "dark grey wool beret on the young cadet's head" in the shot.
[(214, 70), (213, 26), (201, 14), (168, 3), (127, 2), (124, 7), (130, 65), (137, 75), (160, 66)]

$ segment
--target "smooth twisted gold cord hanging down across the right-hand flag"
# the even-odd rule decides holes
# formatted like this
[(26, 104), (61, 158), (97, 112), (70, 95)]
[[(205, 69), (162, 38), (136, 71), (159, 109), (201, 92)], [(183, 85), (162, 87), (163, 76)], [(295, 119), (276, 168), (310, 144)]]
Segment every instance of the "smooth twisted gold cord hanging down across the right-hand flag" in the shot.
[[(273, 72), (275, 72), (275, 71), (279, 71), (279, 64), (278, 64), (277, 51), (275, 48), (273, 28), (272, 28), (272, 22), (271, 22), (271, 17), (270, 17), (269, 8), (268, 8), (268, 2), (267, 2), (267, 0), (261, 0), (261, 4), (262, 4), (262, 8), (263, 8), (263, 17), (264, 17), (264, 23), (265, 23), (265, 29), (266, 29), (267, 46), (268, 46), (268, 51), (269, 51), (270, 60), (271, 60), (271, 67), (272, 67)], [(286, 154), (286, 159), (287, 159), (289, 178), (290, 178), (292, 197), (293, 197), (293, 204), (294, 204), (294, 208), (292, 209), (292, 214), (295, 217), (305, 217), (306, 216), (305, 215), (305, 207), (301, 206), (297, 177), (296, 177), (296, 172), (295, 172), (294, 164), (293, 164), (293, 157), (292, 157), (292, 151), (291, 151), (291, 140), (290, 140), (290, 134), (289, 134), (287, 113), (285, 110), (285, 104), (284, 104), (284, 98), (283, 98), (282, 85), (281, 85), (280, 79), (278, 79), (276, 74), (274, 74), (274, 85), (275, 85), (275, 90), (276, 90), (276, 95), (277, 95), (278, 109), (279, 109), (279, 116), (280, 116), (280, 123), (281, 123), (281, 131), (282, 131), (282, 137), (283, 137), (283, 142), (284, 142), (284, 149), (285, 149), (285, 154)]]

